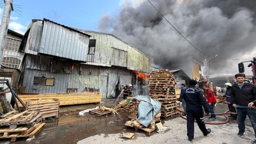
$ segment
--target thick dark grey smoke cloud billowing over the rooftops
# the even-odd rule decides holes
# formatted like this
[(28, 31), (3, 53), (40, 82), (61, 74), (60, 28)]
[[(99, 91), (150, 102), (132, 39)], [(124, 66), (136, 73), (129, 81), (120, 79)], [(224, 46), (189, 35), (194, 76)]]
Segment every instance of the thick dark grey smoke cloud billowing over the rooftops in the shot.
[(99, 30), (133, 45), (159, 68), (184, 69), (191, 56), (204, 61), (218, 54), (211, 60), (211, 76), (235, 74), (240, 61), (234, 60), (256, 56), (255, 0), (150, 1), (204, 54), (186, 42), (147, 0), (136, 6), (138, 1), (122, 1), (119, 15), (104, 15)]

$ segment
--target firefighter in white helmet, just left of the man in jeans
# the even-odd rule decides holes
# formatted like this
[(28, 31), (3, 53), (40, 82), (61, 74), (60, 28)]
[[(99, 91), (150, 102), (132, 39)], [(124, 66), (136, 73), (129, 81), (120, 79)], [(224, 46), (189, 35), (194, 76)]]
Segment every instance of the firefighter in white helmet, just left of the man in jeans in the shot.
[(223, 98), (225, 99), (225, 103), (228, 104), (228, 110), (230, 111), (230, 118), (231, 120), (236, 120), (237, 114), (236, 114), (236, 108), (232, 106), (231, 104), (231, 97), (230, 97), (230, 91), (231, 91), (231, 83), (225, 83), (225, 87), (227, 88), (225, 95), (223, 95)]

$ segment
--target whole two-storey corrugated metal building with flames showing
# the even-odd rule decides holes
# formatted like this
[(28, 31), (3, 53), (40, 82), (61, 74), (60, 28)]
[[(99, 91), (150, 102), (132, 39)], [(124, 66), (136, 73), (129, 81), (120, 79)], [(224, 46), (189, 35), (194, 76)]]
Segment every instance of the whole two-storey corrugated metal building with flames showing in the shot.
[(143, 87), (136, 72), (148, 72), (147, 56), (116, 36), (47, 19), (32, 20), (20, 51), (26, 53), (25, 93), (100, 92), (106, 98), (115, 96), (117, 83)]

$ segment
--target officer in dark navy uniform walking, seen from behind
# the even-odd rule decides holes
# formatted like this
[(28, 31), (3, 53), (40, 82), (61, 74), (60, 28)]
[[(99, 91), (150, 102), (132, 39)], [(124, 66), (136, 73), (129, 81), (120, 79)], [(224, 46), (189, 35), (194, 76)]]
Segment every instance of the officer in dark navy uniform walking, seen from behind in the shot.
[(205, 97), (203, 96), (202, 90), (195, 87), (196, 81), (191, 79), (189, 80), (189, 86), (186, 88), (183, 97), (187, 104), (187, 135), (188, 140), (192, 141), (194, 139), (194, 120), (198, 127), (203, 132), (204, 136), (207, 136), (211, 132), (211, 129), (206, 129), (204, 123), (204, 111), (202, 106), (204, 106), (205, 113), (209, 114), (209, 106)]

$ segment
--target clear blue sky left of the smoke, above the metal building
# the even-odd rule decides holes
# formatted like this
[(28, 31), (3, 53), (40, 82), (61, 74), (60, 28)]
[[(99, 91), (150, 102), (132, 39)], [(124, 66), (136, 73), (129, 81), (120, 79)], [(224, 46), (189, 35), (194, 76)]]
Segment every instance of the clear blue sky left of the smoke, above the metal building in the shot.
[[(3, 0), (0, 3), (3, 15)], [(13, 0), (9, 29), (24, 34), (31, 19), (49, 19), (68, 27), (97, 31), (102, 15), (115, 15), (120, 0)]]

